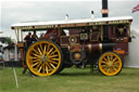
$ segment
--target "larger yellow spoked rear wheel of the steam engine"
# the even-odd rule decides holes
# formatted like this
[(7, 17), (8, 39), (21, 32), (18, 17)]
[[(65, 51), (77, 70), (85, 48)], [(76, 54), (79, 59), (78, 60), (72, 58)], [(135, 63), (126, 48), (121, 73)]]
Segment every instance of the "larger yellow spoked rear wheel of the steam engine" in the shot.
[(26, 53), (28, 69), (37, 76), (50, 76), (62, 68), (62, 53), (52, 41), (38, 41)]

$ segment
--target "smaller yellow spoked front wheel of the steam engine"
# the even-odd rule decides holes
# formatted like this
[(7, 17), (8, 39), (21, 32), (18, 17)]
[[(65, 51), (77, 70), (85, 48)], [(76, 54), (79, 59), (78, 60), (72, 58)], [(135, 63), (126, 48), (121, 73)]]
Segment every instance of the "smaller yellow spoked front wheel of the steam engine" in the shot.
[(99, 70), (105, 76), (115, 76), (122, 70), (122, 60), (117, 53), (106, 52), (99, 58)]

